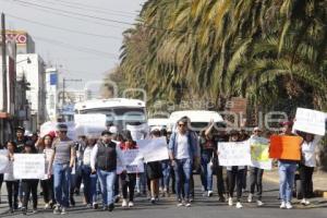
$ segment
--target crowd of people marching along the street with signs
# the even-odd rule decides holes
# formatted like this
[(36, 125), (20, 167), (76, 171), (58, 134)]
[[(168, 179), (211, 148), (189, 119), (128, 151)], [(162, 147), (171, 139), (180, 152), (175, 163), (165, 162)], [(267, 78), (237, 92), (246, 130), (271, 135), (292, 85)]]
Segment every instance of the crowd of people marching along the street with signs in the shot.
[[(59, 124), (56, 133), (39, 137), (37, 134), (26, 137), (23, 128), (16, 129), (16, 138), (7, 142), (1, 149), (7, 149), (10, 167), (15, 161), (15, 154), (44, 154), (46, 173), (41, 180), (16, 180), (13, 172), (0, 174), (0, 189), (4, 181), (9, 213), (21, 210), (26, 215), (28, 205), (33, 213), (40, 208), (39, 191), (44, 198), (44, 209), (64, 215), (68, 208), (75, 206), (74, 195), (80, 194), (83, 184), (83, 199), (87, 208), (112, 211), (121, 202), (121, 207), (134, 207), (135, 197), (147, 196), (149, 204), (158, 204), (159, 198), (174, 195), (177, 206), (190, 207), (194, 201), (194, 177), (199, 171), (204, 195), (214, 195), (214, 174), (217, 178), (218, 201), (229, 206), (242, 208), (242, 195), (250, 178), (246, 202), (256, 196), (257, 206), (263, 206), (264, 170), (250, 166), (219, 165), (218, 146), (221, 142), (264, 142), (259, 128), (254, 128), (251, 135), (244, 131), (217, 131), (215, 123), (198, 134), (189, 129), (190, 120), (184, 117), (177, 123), (177, 131), (153, 130), (150, 138), (165, 136), (169, 159), (145, 162), (144, 172), (129, 173), (125, 168), (117, 173), (118, 162), (125, 166), (122, 152), (137, 149), (131, 132), (118, 132), (111, 126), (101, 132), (101, 136), (81, 135), (77, 142), (68, 137), (68, 126)], [(292, 122), (282, 123), (282, 135), (293, 135)], [(319, 137), (308, 133), (298, 133), (303, 138), (302, 160), (278, 160), (280, 208), (292, 208), (292, 192), (295, 171), (300, 171), (303, 199), (310, 205), (311, 183), (315, 162), (315, 146)], [(40, 185), (40, 190), (38, 186)], [(120, 197), (122, 196), (122, 197)], [(122, 198), (120, 201), (120, 198)], [(101, 199), (101, 202), (100, 202)], [(28, 204), (29, 203), (29, 204)]]

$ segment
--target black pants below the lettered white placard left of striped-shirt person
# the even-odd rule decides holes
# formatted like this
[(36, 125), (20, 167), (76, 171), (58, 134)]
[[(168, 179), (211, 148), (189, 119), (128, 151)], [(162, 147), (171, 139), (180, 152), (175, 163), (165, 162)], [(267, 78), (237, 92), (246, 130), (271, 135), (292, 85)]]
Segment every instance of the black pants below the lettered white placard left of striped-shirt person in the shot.
[(32, 199), (33, 199), (33, 208), (37, 208), (37, 185), (38, 180), (23, 180), (22, 181), (22, 189), (23, 189), (23, 206), (27, 208), (29, 196), (32, 193)]

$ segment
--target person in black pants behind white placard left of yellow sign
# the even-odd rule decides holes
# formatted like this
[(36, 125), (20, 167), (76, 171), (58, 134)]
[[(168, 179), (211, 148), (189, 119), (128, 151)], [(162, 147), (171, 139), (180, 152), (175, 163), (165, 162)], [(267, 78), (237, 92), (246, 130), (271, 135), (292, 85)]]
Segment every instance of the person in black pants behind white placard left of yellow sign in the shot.
[[(232, 130), (230, 132), (229, 142), (240, 142), (240, 134), (238, 131)], [(219, 146), (219, 144), (218, 144)], [(219, 153), (218, 153), (219, 156)], [(231, 166), (227, 167), (227, 178), (228, 178), (228, 205), (233, 205), (234, 189), (237, 186), (237, 208), (242, 208), (241, 197), (243, 189), (244, 179), (244, 166)]]

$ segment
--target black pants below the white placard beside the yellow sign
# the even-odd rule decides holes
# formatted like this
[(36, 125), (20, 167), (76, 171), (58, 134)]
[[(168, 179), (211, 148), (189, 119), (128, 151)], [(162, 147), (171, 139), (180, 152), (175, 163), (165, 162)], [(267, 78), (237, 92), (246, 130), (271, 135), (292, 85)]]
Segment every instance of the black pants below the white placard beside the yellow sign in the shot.
[(240, 202), (242, 197), (242, 187), (244, 181), (244, 169), (239, 170), (238, 167), (232, 167), (232, 170), (227, 170), (229, 196), (234, 196), (234, 189), (237, 186), (237, 201)]

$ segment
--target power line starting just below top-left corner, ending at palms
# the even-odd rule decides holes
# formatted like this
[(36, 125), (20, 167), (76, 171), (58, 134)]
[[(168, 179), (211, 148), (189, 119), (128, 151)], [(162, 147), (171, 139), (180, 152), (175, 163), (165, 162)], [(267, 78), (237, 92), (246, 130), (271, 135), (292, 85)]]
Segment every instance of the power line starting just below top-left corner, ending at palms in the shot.
[(45, 23), (37, 22), (37, 21), (22, 19), (22, 17), (19, 17), (19, 16), (9, 14), (9, 13), (5, 13), (5, 14), (7, 14), (7, 16), (10, 16), (12, 19), (24, 21), (24, 22), (27, 22), (27, 23), (36, 24), (36, 25), (40, 25), (40, 26), (45, 26), (45, 27), (48, 27), (48, 28), (55, 28), (55, 29), (64, 31), (64, 32), (69, 32), (69, 33), (94, 36), (94, 37), (99, 37), (99, 38), (112, 38), (112, 39), (117, 39), (117, 40), (122, 40), (122, 38), (119, 38), (119, 37), (116, 37), (116, 36), (92, 34), (92, 33), (87, 33), (87, 32), (80, 32), (80, 31), (74, 31), (74, 29), (71, 29), (71, 28), (64, 28), (64, 27), (53, 26), (53, 25), (50, 25), (50, 24), (45, 24)]

